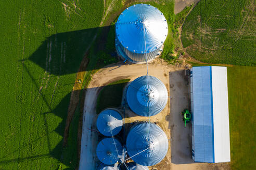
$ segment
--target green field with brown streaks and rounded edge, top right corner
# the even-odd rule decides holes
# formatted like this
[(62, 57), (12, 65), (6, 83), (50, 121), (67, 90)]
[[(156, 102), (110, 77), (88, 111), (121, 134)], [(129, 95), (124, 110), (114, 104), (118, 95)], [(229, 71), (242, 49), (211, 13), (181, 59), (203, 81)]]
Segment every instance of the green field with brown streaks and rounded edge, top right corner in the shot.
[(182, 43), (206, 63), (256, 66), (254, 0), (201, 0), (182, 27)]

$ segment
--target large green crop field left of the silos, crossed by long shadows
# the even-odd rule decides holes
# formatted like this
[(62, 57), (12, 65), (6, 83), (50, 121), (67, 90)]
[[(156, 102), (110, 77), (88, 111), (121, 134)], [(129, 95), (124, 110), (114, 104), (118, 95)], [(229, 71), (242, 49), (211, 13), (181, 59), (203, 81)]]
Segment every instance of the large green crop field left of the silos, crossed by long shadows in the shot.
[(62, 148), (70, 93), (103, 1), (0, 1), (0, 169), (74, 169), (79, 115)]

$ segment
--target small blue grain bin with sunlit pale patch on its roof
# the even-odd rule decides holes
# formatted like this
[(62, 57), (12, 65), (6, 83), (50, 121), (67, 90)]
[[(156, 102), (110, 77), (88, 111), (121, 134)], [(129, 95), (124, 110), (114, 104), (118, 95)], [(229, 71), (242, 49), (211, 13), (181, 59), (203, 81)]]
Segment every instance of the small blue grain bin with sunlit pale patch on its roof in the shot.
[(106, 109), (100, 112), (97, 119), (97, 128), (99, 132), (105, 136), (113, 136), (118, 134), (123, 126), (123, 118), (118, 111)]

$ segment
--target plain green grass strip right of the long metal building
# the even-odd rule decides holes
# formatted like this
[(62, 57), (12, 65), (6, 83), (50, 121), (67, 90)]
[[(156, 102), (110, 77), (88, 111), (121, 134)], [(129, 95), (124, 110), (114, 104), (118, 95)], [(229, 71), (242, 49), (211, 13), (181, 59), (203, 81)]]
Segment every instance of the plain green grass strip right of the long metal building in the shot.
[(254, 169), (256, 68), (227, 67), (232, 169)]

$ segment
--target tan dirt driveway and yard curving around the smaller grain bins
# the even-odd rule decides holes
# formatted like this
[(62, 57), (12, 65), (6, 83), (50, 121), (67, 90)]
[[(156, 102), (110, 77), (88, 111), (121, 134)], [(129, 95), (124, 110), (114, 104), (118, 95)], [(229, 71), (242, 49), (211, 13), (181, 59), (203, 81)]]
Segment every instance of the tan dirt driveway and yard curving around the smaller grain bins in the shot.
[[(156, 121), (158, 125), (167, 133), (170, 139), (169, 150), (167, 157), (155, 166), (155, 169), (228, 169), (228, 164), (209, 164), (209, 163), (194, 163), (191, 159), (191, 126), (186, 129), (181, 119), (180, 112), (184, 108), (188, 108), (189, 104), (189, 86), (183, 68), (168, 65), (161, 59), (156, 59), (148, 64), (149, 75), (158, 77), (168, 88), (168, 93), (171, 99), (164, 110), (153, 117), (151, 121)], [(118, 63), (109, 65), (100, 69), (93, 75), (93, 79), (88, 86), (83, 117), (83, 132), (81, 141), (81, 158), (79, 169), (94, 170), (97, 162), (96, 147), (98, 134), (88, 129), (96, 129), (96, 100), (100, 89), (109, 82), (130, 78), (133, 81), (139, 76), (146, 75), (146, 65), (129, 65)], [(129, 115), (128, 112), (125, 114)], [(132, 122), (135, 119), (143, 119), (137, 115), (133, 115), (130, 119), (126, 118), (125, 122)], [(146, 118), (147, 119), (147, 118)], [(152, 169), (153, 167), (150, 167)]]

